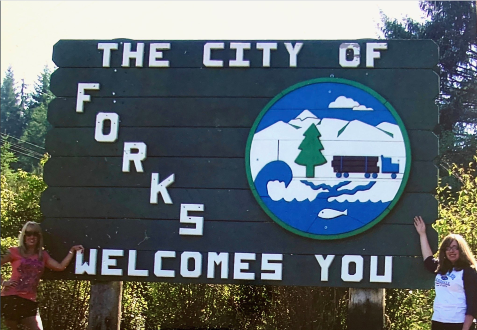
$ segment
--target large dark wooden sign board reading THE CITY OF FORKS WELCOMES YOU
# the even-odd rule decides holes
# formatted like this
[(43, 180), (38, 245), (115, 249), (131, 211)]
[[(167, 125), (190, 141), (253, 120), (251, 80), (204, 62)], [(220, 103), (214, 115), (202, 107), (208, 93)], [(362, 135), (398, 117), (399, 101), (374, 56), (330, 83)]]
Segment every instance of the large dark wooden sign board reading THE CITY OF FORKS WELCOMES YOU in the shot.
[(42, 227), (53, 256), (86, 250), (48, 278), (431, 287), (432, 41), (61, 40), (53, 61)]

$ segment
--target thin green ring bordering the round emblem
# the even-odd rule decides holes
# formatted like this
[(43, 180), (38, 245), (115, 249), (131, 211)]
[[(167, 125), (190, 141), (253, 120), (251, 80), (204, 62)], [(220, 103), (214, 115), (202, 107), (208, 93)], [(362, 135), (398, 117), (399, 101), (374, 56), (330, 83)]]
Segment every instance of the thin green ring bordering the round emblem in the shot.
[[(292, 92), (293, 90), (298, 89), (300, 87), (315, 84), (315, 83), (343, 83), (343, 84), (347, 84), (347, 85), (351, 85), (351, 86), (360, 88), (360, 89), (368, 92), (369, 94), (373, 95), (391, 112), (393, 117), (396, 119), (397, 125), (399, 126), (399, 129), (401, 130), (402, 138), (404, 140), (404, 146), (405, 146), (405, 152), (406, 152), (406, 165), (404, 167), (404, 175), (402, 176), (401, 184), (399, 186), (399, 189), (397, 190), (397, 193), (396, 193), (394, 199), (391, 201), (391, 203), (388, 205), (388, 207), (376, 219), (374, 219), (373, 221), (371, 221), (370, 223), (366, 224), (363, 227), (360, 227), (360, 228), (355, 229), (353, 231), (342, 233), (342, 234), (318, 235), (318, 234), (305, 233), (305, 232), (302, 232), (302, 231), (286, 224), (282, 220), (280, 220), (275, 214), (273, 214), (273, 212), (271, 212), (268, 209), (268, 207), (265, 205), (265, 203), (263, 203), (262, 199), (260, 198), (260, 196), (258, 195), (258, 193), (255, 189), (255, 183), (253, 182), (252, 175), (251, 175), (251, 172), (250, 172), (250, 147), (251, 147), (251, 144), (252, 144), (253, 135), (255, 134), (255, 130), (256, 130), (258, 124), (260, 123), (260, 121), (262, 120), (263, 116), (265, 115), (265, 113), (268, 111), (268, 109), (270, 109), (272, 107), (273, 104), (275, 104), (279, 99), (281, 99), (286, 94), (288, 94), (288, 93)], [(404, 127), (404, 123), (402, 122), (401, 118), (397, 114), (397, 111), (395, 110), (395, 108), (383, 96), (378, 94), (375, 90), (371, 89), (370, 87), (368, 87), (366, 85), (363, 85), (361, 83), (357, 83), (357, 82), (347, 80), (347, 79), (342, 79), (342, 78), (316, 78), (316, 79), (311, 79), (311, 80), (307, 80), (305, 82), (296, 83), (296, 84), (288, 87), (287, 89), (283, 90), (282, 92), (280, 92), (270, 102), (268, 102), (267, 105), (265, 105), (265, 107), (262, 109), (262, 111), (260, 111), (260, 113), (258, 114), (258, 117), (255, 119), (255, 122), (253, 123), (253, 125), (250, 129), (250, 133), (248, 134), (247, 145), (246, 145), (246, 148), (245, 148), (245, 171), (246, 171), (246, 174), (247, 174), (248, 185), (250, 186), (250, 189), (252, 190), (253, 197), (255, 197), (255, 199), (257, 200), (260, 207), (265, 211), (265, 213), (270, 218), (273, 219), (273, 221), (275, 221), (277, 224), (279, 224), (284, 229), (286, 229), (286, 230), (288, 230), (288, 231), (290, 231), (294, 234), (297, 234), (297, 235), (300, 235), (300, 236), (303, 236), (303, 237), (316, 239), (316, 240), (337, 240), (337, 239), (343, 239), (343, 238), (346, 238), (346, 237), (355, 236), (355, 235), (358, 235), (360, 233), (363, 233), (364, 231), (370, 229), (371, 227), (373, 227), (374, 225), (379, 223), (381, 220), (383, 220), (384, 217), (387, 216), (388, 213), (393, 209), (393, 207), (396, 205), (397, 201), (401, 197), (402, 193), (404, 192), (404, 188), (407, 184), (407, 179), (409, 178), (410, 167), (411, 167), (411, 147), (410, 147), (409, 137), (408, 137), (407, 131)]]

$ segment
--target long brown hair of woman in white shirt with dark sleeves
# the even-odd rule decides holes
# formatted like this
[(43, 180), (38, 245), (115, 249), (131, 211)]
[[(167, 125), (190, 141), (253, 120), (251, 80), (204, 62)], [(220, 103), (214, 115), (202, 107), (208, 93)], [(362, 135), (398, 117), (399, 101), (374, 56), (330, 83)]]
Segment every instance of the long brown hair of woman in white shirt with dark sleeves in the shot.
[[(459, 259), (456, 264), (453, 265), (446, 257), (446, 248), (450, 247), (452, 242), (456, 241), (459, 246)], [(441, 243), (439, 248), (439, 265), (436, 272), (445, 275), (447, 272), (456, 268), (456, 270), (462, 270), (465, 267), (471, 266), (477, 269), (477, 261), (474, 255), (472, 255), (471, 249), (466, 240), (458, 234), (447, 235)]]

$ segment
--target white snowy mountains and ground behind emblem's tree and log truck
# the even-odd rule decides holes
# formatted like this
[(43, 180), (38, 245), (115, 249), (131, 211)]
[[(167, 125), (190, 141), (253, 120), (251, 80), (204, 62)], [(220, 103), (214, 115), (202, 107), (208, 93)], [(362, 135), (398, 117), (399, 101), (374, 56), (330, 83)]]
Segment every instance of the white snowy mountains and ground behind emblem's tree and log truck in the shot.
[[(318, 129), (319, 141), (323, 146), (321, 154), (326, 159), (325, 164), (315, 167), (314, 178), (307, 178), (306, 167), (295, 163), (301, 152), (299, 146), (304, 140), (303, 134), (309, 129), (310, 125), (315, 125)], [(387, 195), (392, 199), (396, 192), (394, 191), (395, 188), (398, 189), (399, 187), (406, 154), (402, 134), (395, 124), (383, 122), (377, 126), (372, 126), (359, 120), (319, 119), (309, 110), (305, 110), (288, 123), (276, 122), (254, 135), (250, 148), (250, 170), (252, 178), (255, 179), (260, 170), (268, 163), (283, 161), (292, 170), (294, 181), (307, 180), (317, 184), (326, 182), (333, 186), (344, 180), (336, 177), (336, 173), (331, 166), (333, 156), (379, 157), (378, 166), (380, 168), (382, 168), (380, 156), (390, 157), (392, 163), (399, 164), (397, 179), (392, 180), (384, 174), (380, 174), (380, 179), (388, 178), (387, 183), (375, 180), (377, 181), (376, 184), (368, 191), (359, 191), (353, 195), (341, 195), (335, 198), (339, 201), (349, 199), (383, 201), (388, 199)], [(363, 173), (351, 173), (349, 179), (352, 178), (361, 182), (370, 180), (365, 178)], [(359, 183), (354, 181), (353, 184)], [(384, 188), (383, 184), (389, 186), (390, 189)], [(287, 187), (283, 188), (288, 189)], [(297, 184), (290, 185), (289, 188), (296, 190)], [(316, 198), (317, 192), (311, 190), (310, 187), (302, 186), (301, 189), (309, 191), (311, 193), (310, 198)], [(288, 194), (288, 199), (290, 199), (290, 192), (285, 192), (285, 190), (283, 193)], [(303, 198), (305, 196), (300, 199)]]

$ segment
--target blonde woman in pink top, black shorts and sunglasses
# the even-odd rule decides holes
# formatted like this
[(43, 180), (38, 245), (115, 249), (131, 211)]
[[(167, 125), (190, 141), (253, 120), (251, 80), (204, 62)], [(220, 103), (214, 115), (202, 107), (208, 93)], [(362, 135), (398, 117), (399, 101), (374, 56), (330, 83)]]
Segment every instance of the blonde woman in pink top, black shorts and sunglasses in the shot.
[(10, 262), (12, 273), (8, 280), (0, 278), (1, 316), (10, 330), (18, 325), (29, 330), (43, 330), (36, 302), (36, 290), (45, 267), (62, 271), (70, 264), (76, 251), (82, 253), (83, 247), (74, 246), (61, 263), (50, 257), (43, 249), (43, 236), (40, 225), (27, 222), (18, 237), (18, 247), (9, 248), (1, 256), (0, 264)]

